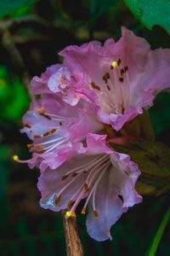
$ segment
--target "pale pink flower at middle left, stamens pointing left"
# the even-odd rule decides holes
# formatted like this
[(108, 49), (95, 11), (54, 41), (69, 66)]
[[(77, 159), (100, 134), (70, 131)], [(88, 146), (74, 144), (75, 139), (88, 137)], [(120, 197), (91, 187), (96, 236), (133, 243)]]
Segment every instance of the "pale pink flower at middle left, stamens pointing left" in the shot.
[[(43, 88), (45, 89), (45, 87)], [(72, 150), (82, 153), (82, 141), (90, 131), (101, 131), (103, 125), (96, 119), (94, 105), (78, 102), (76, 107), (63, 102), (59, 96), (44, 94), (31, 104), (23, 118), (24, 128), (33, 143), (30, 160), (18, 160), (33, 168), (39, 166), (44, 172), (47, 167), (55, 169), (71, 154)]]

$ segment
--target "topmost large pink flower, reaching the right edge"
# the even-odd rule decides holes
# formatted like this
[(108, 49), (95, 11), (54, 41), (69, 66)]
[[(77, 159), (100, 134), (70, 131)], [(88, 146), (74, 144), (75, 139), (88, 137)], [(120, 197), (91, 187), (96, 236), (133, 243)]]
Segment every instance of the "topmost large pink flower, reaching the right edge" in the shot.
[(101, 122), (116, 131), (170, 86), (170, 49), (151, 50), (144, 38), (124, 27), (117, 42), (108, 39), (103, 46), (98, 42), (68, 46), (59, 55), (70, 72), (83, 76), (83, 86), (74, 84), (70, 90), (81, 98), (86, 87), (86, 96), (99, 106)]

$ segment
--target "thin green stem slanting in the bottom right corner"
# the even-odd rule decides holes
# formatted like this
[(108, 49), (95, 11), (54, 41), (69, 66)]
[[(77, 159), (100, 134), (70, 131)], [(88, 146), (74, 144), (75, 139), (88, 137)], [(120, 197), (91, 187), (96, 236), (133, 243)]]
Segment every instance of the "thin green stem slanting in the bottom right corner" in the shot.
[(147, 256), (154, 256), (156, 254), (157, 247), (159, 246), (161, 237), (163, 236), (163, 232), (167, 226), (169, 218), (170, 218), (170, 208), (167, 209), (167, 212), (165, 213), (164, 217), (161, 220), (161, 224), (159, 226), (159, 229), (156, 232), (156, 236), (154, 237), (154, 240), (150, 247), (150, 251), (146, 254)]

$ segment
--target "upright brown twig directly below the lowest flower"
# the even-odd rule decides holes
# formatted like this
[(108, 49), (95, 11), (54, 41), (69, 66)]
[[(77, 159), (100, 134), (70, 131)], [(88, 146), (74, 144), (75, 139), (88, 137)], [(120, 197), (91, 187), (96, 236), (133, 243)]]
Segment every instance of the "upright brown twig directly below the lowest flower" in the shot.
[(62, 212), (67, 256), (82, 256), (82, 243), (78, 235), (76, 218), (67, 218)]

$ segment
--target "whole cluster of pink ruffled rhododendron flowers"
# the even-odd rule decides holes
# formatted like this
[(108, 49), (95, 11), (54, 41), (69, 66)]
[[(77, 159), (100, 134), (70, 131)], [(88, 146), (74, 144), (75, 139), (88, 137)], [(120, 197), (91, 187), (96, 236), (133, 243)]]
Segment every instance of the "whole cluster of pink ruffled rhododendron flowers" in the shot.
[(84, 200), (88, 234), (105, 241), (122, 213), (142, 201), (135, 190), (137, 164), (110, 141), (169, 87), (170, 50), (151, 50), (143, 38), (122, 28), (117, 42), (72, 45), (59, 55), (63, 64), (31, 80), (39, 97), (21, 130), (31, 138), (31, 160), (14, 159), (39, 167), (41, 207), (68, 209), (67, 217), (75, 217)]

